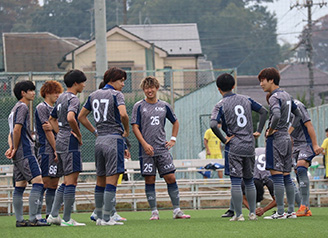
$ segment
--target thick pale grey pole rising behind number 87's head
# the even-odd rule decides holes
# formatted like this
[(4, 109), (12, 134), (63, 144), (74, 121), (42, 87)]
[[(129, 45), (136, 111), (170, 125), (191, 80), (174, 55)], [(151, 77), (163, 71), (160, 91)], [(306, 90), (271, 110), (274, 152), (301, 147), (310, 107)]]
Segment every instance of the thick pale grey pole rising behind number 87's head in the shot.
[(94, 0), (95, 36), (96, 36), (96, 88), (102, 81), (108, 68), (106, 39), (106, 3), (105, 0)]

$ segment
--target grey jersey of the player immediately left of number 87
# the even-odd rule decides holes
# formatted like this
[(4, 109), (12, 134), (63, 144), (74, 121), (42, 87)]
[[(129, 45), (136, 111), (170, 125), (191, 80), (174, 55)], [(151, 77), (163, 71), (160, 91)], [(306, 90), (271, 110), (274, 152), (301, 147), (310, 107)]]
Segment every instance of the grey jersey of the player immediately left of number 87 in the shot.
[(51, 116), (58, 120), (59, 132), (56, 138), (56, 151), (58, 153), (80, 150), (78, 141), (72, 135), (72, 128), (67, 121), (69, 112), (75, 113), (75, 119), (79, 123), (77, 116), (80, 112), (80, 101), (73, 93), (64, 92), (58, 97), (54, 110), (51, 112)]

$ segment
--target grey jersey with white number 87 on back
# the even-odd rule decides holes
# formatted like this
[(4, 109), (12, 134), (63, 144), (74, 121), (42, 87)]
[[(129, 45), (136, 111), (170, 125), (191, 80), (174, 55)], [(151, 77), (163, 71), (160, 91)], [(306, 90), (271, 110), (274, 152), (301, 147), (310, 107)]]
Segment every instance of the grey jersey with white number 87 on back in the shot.
[(99, 135), (123, 134), (118, 106), (125, 105), (123, 93), (111, 88), (98, 89), (90, 94), (84, 107), (93, 112)]

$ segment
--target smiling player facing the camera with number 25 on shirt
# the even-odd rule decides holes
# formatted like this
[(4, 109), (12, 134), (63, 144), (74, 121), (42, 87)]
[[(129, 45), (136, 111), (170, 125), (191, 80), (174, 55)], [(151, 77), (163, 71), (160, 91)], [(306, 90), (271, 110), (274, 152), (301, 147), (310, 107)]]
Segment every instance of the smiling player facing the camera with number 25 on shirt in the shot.
[[(141, 81), (141, 89), (146, 96), (137, 102), (132, 111), (132, 130), (139, 141), (139, 159), (141, 174), (145, 178), (145, 192), (152, 210), (150, 220), (158, 220), (159, 213), (156, 204), (156, 169), (160, 177), (167, 183), (168, 194), (173, 205), (174, 219), (188, 219), (180, 210), (179, 188), (175, 179), (175, 166), (169, 152), (175, 145), (179, 131), (179, 122), (171, 106), (157, 99), (159, 82), (155, 77), (146, 77)], [(172, 137), (166, 141), (166, 118), (173, 124)]]

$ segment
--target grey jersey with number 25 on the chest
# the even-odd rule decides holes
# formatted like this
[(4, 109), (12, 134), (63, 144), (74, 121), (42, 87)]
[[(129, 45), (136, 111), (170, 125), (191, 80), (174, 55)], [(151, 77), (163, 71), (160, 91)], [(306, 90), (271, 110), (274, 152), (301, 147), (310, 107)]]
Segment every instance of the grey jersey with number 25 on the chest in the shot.
[[(165, 147), (165, 121), (166, 118), (173, 124), (177, 118), (167, 102), (158, 100), (154, 104), (141, 100), (134, 104), (131, 124), (137, 124), (145, 141), (154, 148), (154, 156), (168, 152)], [(145, 152), (139, 143), (139, 155)]]

